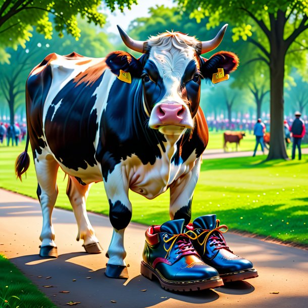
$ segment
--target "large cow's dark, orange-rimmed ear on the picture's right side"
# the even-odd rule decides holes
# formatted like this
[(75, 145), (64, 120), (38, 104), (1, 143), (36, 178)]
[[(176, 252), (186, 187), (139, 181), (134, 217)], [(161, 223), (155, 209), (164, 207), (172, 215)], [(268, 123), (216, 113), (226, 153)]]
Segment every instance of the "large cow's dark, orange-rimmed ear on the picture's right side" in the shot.
[[(205, 58), (201, 58), (201, 73), (204, 78), (213, 80), (213, 74), (222, 72), (219, 69), (223, 69), (224, 76), (228, 75), (229, 73), (235, 71), (238, 67), (238, 57), (234, 53), (230, 52), (219, 52), (214, 54), (209, 60)], [(228, 77), (229, 78), (229, 77)], [(228, 78), (221, 78), (218, 81), (223, 81)], [(215, 82), (215, 83), (216, 83)]]

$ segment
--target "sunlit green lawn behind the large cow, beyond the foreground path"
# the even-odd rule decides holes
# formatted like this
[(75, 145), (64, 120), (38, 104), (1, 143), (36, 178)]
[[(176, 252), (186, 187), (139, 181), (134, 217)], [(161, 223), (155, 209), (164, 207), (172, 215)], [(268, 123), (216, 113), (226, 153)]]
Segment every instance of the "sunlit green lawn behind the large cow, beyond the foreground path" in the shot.
[[(0, 187), (36, 198), (31, 159), (23, 182), (14, 176), (14, 163), (23, 146), (0, 146)], [(204, 160), (192, 204), (192, 218), (216, 213), (229, 228), (308, 244), (308, 156), (301, 161), (262, 163), (265, 156)], [(57, 206), (71, 209), (65, 194), (67, 180), (59, 171)], [(102, 183), (91, 188), (87, 209), (108, 215)], [(146, 225), (169, 220), (169, 192), (153, 200), (130, 192), (132, 220)]]

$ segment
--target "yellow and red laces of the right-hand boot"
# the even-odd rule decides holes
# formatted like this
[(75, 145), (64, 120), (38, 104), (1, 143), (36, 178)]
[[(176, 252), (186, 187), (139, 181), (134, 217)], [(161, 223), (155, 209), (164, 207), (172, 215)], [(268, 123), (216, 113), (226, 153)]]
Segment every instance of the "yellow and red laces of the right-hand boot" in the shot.
[[(224, 239), (223, 233), (226, 233), (228, 231), (228, 227), (226, 225), (219, 225), (220, 221), (219, 219), (216, 220), (216, 227), (212, 230), (204, 230), (197, 236), (197, 241), (199, 245), (203, 245), (203, 253), (206, 252), (207, 248), (207, 243), (210, 241), (210, 246), (215, 246), (214, 250), (222, 249), (222, 248), (227, 248), (229, 247), (226, 244), (226, 241)], [(200, 242), (199, 238), (203, 235), (206, 234), (206, 237)]]

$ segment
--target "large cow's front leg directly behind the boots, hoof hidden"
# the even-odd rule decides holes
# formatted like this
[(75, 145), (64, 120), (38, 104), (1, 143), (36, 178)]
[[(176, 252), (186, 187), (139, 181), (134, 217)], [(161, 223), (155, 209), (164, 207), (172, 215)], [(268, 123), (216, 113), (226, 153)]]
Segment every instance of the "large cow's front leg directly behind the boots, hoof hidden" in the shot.
[(186, 225), (191, 219), (191, 201), (199, 178), (200, 165), (201, 157), (197, 159), (191, 171), (170, 186), (170, 218), (183, 218)]

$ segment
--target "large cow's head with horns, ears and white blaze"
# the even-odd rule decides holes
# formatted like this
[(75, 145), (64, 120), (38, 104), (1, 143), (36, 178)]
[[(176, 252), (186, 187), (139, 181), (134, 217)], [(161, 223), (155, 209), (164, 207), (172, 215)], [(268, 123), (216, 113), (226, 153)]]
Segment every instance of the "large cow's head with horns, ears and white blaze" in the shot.
[(209, 60), (200, 57), (220, 44), (227, 25), (214, 39), (204, 42), (181, 32), (166, 32), (136, 41), (118, 28), (124, 43), (143, 56), (135, 59), (128, 53), (115, 52), (106, 62), (117, 75), (122, 70), (122, 74), (124, 71), (142, 79), (143, 107), (149, 127), (164, 134), (180, 134), (185, 128), (193, 128), (201, 79), (212, 80), (213, 74), (223, 69), (225, 78), (217, 75), (214, 82), (225, 80), (238, 66), (237, 56), (230, 52), (219, 52)]

